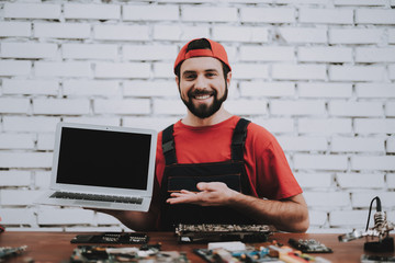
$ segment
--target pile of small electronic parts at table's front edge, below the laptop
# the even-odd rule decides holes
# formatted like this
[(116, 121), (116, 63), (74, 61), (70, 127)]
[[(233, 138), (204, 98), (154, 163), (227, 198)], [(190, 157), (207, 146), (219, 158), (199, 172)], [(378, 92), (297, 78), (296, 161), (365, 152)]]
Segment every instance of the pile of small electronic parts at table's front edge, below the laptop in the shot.
[(105, 248), (100, 245), (78, 245), (70, 256), (71, 263), (119, 263), (119, 262), (174, 262), (189, 263), (185, 253), (160, 251), (160, 245), (142, 248)]

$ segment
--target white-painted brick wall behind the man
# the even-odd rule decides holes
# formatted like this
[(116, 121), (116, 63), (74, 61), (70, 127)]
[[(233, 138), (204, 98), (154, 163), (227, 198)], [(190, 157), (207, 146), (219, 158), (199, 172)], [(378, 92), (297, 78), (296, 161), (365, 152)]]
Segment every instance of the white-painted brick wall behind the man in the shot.
[[(58, 122), (163, 129), (185, 114), (172, 64), (224, 44), (227, 110), (273, 133), (302, 185), (309, 231), (364, 227), (395, 204), (395, 11), (386, 0), (2, 1), (0, 217), (13, 230), (124, 229), (40, 207)], [(361, 210), (362, 209), (362, 210)], [(393, 219), (394, 220), (394, 219)]]

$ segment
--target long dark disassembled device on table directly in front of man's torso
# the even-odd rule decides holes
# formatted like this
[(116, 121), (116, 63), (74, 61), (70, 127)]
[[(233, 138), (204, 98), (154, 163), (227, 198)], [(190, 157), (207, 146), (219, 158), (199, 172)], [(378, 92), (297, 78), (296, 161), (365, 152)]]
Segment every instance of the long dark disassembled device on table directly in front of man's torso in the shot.
[(264, 242), (273, 231), (275, 231), (275, 228), (269, 225), (180, 224), (176, 228), (176, 236), (180, 243), (219, 241)]

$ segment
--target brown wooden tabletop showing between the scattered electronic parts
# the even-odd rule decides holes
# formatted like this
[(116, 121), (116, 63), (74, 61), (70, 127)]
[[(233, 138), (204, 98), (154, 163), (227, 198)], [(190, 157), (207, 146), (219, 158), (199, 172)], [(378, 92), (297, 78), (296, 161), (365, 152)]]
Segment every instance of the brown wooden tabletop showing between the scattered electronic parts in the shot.
[[(68, 262), (71, 252), (77, 244), (70, 240), (81, 232), (3, 232), (0, 235), (0, 247), (20, 247), (26, 244), (29, 248), (22, 255), (11, 258), (7, 262), (27, 262), (33, 259), (35, 263), (44, 262)], [(191, 262), (204, 262), (193, 253), (193, 249), (207, 248), (207, 244), (179, 244), (172, 232), (149, 232), (149, 243), (161, 242), (162, 251), (184, 251)], [(315, 239), (334, 250), (330, 254), (319, 254), (331, 262), (360, 262), (363, 251), (364, 239), (354, 240), (348, 243), (340, 243), (338, 235), (324, 233), (274, 233), (270, 240), (287, 244), (290, 238)], [(133, 245), (121, 245), (133, 247)], [(371, 253), (370, 253), (371, 254)], [(393, 255), (391, 253), (390, 255)], [(317, 255), (317, 254), (315, 254)]]

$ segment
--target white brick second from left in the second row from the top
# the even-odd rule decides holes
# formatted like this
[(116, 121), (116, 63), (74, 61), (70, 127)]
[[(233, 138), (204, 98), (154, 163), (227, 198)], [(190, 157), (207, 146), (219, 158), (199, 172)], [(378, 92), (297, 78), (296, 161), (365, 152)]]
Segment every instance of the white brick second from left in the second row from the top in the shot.
[(90, 37), (90, 25), (84, 23), (40, 23), (34, 24), (34, 36), (45, 38), (77, 38)]

